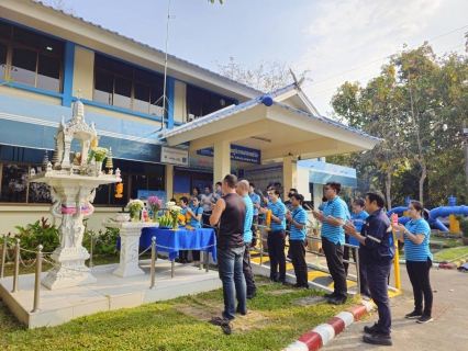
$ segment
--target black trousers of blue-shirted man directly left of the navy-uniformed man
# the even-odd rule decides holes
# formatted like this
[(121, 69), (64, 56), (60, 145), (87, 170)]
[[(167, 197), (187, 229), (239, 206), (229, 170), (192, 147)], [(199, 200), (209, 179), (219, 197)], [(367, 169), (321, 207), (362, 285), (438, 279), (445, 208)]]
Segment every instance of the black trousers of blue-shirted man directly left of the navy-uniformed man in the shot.
[(322, 238), (322, 249), (325, 253), (326, 264), (334, 283), (334, 294), (338, 298), (346, 298), (348, 288), (346, 285), (345, 268), (343, 265), (343, 246), (333, 244), (326, 238)]

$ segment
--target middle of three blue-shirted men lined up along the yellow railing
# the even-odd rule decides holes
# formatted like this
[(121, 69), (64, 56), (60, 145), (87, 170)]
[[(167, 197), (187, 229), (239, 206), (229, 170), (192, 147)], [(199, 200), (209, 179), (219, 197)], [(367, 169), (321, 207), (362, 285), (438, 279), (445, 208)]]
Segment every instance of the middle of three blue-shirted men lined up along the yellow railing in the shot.
[(305, 263), (305, 235), (308, 230), (308, 214), (304, 208), (302, 208), (304, 196), (301, 194), (291, 194), (290, 201), (293, 210), (291, 213), (288, 213), (285, 216), (291, 225), (291, 230), (289, 233), (289, 254), (291, 257), (292, 265), (294, 267), (294, 287), (309, 288), (308, 265)]

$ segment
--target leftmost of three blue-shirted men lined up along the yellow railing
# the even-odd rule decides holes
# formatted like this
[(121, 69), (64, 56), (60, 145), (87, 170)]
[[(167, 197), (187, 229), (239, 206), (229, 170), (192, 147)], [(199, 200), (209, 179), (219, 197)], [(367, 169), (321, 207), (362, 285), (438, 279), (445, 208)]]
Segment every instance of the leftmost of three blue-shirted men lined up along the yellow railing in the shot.
[[(270, 257), (270, 280), (285, 284), (286, 280), (286, 256), (285, 256), (285, 238), (286, 238), (286, 206), (279, 197), (281, 192), (278, 189), (270, 190), (268, 196), (268, 210), (271, 210), (271, 230), (268, 231), (268, 253)], [(263, 214), (268, 212), (260, 208)], [(279, 278), (278, 278), (279, 265)]]

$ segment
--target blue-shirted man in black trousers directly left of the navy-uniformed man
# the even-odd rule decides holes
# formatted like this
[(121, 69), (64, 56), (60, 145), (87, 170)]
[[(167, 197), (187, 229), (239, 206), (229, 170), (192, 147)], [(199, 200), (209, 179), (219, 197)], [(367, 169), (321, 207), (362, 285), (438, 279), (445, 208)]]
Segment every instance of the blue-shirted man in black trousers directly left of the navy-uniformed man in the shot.
[(343, 223), (346, 217), (345, 206), (338, 197), (342, 184), (328, 182), (325, 184), (324, 195), (328, 200), (323, 212), (313, 212), (313, 216), (322, 222), (322, 249), (325, 253), (326, 264), (334, 283), (332, 294), (325, 294), (328, 302), (334, 305), (342, 305), (347, 299), (347, 285), (345, 267), (343, 265), (343, 248), (345, 245), (345, 233)]

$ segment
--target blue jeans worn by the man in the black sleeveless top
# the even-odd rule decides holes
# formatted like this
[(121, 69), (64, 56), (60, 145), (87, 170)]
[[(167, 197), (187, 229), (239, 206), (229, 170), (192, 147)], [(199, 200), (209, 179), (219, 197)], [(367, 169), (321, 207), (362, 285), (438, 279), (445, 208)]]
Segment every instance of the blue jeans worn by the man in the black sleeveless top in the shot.
[[(235, 314), (247, 314), (247, 287), (243, 272), (245, 247), (220, 250), (218, 249), (218, 270), (223, 282), (224, 319), (232, 320)], [(237, 308), (235, 299), (237, 297)]]

